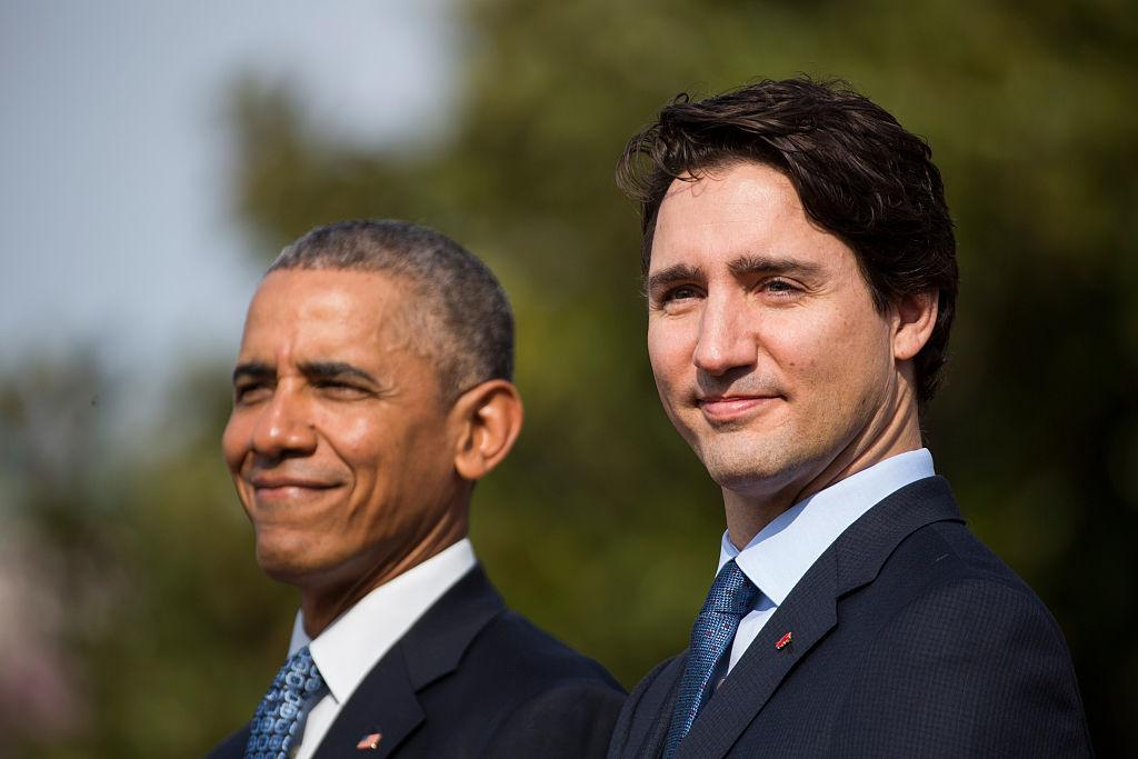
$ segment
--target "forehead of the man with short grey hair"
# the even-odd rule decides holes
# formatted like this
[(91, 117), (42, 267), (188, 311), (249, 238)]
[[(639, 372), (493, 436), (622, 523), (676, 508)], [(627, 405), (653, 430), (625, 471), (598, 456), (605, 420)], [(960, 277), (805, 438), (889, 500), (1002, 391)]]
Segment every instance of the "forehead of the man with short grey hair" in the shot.
[(365, 355), (390, 347), (405, 337), (404, 313), (411, 292), (412, 288), (376, 272), (271, 272), (249, 304), (241, 354), (275, 354), (287, 347)]

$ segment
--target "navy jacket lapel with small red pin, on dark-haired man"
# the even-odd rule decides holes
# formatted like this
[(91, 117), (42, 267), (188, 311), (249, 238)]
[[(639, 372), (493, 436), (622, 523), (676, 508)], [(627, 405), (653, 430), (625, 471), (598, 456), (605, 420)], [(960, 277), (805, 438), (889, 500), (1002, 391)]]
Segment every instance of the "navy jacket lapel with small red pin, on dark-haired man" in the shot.
[[(946, 520), (963, 521), (948, 482), (931, 477), (893, 493), (853, 522), (762, 627), (700, 712), (676, 759), (724, 756), (791, 668), (840, 624), (838, 600), (873, 581), (889, 554), (913, 531)], [(792, 633), (791, 643), (776, 647), (786, 633)], [(668, 711), (663, 720), (670, 717)]]

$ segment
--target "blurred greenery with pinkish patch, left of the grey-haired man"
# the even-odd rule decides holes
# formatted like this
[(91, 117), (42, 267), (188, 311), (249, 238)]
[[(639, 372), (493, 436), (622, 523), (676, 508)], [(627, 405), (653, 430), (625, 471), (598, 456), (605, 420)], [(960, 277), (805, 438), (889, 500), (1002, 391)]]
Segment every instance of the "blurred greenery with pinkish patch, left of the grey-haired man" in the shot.
[(264, 691), (249, 651), (287, 644), (217, 448), (225, 369), (185, 371), (154, 430), (90, 355), (0, 378), (2, 756), (200, 756)]

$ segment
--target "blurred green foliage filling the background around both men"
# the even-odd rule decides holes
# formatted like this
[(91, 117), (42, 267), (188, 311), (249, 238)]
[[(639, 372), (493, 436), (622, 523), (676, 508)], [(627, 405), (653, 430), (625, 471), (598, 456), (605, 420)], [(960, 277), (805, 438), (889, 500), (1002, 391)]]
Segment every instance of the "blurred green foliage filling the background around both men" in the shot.
[[(287, 90), (239, 84), (237, 201), (265, 262), (315, 224), (386, 216), (453, 236), (500, 274), (518, 316), (527, 424), (478, 488), (473, 538), (510, 603), (629, 687), (685, 645), (721, 502), (658, 406), (637, 218), (613, 164), (682, 90), (838, 75), (926, 137), (957, 220), (959, 316), (926, 422), (938, 469), (973, 529), (1058, 618), (1099, 750), (1132, 743), (1129, 3), (473, 0), (455, 13), (461, 97), (429, 140), (339, 145)], [(187, 362), (145, 461), (101, 467), (89, 452), (67, 480), (0, 471), (0, 489), (67, 567), (52, 577), (77, 610), (64, 647), (88, 704), (55, 743), (0, 749), (199, 754), (249, 717), (283, 655), (295, 599), (257, 571), (217, 453), (226, 368)], [(68, 371), (56, 372), (60, 413), (98, 385), (97, 372)], [(51, 449), (22, 413), (40, 388), (9, 385), (3, 445)], [(80, 435), (96, 421), (69, 424)]]

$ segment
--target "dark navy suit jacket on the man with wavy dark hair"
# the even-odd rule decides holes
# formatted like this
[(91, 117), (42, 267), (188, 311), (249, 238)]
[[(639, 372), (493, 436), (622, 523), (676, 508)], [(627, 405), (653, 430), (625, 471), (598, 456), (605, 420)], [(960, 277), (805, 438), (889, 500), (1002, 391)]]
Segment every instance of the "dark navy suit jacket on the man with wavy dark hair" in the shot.
[[(679, 655), (636, 687), (611, 758), (660, 756), (683, 668)], [(822, 554), (676, 758), (1090, 753), (1058, 626), (932, 477), (876, 504)]]

